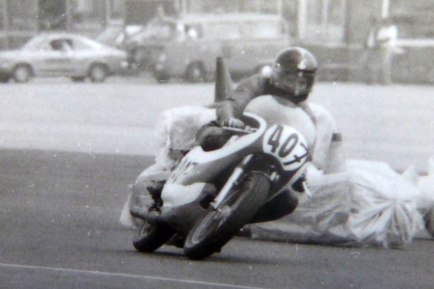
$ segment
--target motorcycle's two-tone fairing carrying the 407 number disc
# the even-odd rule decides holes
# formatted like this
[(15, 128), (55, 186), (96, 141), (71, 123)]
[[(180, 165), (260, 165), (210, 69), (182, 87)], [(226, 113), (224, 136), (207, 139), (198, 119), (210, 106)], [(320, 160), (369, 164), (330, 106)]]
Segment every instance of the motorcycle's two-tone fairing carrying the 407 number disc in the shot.
[(200, 146), (189, 151), (165, 183), (161, 193), (163, 207), (196, 200), (206, 183), (212, 183), (224, 170), (233, 169), (249, 154), (266, 153), (275, 157), (282, 172), (280, 185), (301, 176), (302, 168), (310, 160), (304, 137), (293, 127), (277, 124), (268, 127), (262, 118), (245, 115), (259, 124), (256, 132), (213, 151), (204, 151)]

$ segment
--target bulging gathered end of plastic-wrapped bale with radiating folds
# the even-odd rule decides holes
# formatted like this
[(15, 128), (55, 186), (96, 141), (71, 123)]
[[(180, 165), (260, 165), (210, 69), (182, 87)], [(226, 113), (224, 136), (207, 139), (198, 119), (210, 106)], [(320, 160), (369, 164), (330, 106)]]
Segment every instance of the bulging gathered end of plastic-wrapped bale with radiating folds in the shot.
[(352, 174), (348, 227), (360, 244), (405, 246), (423, 228), (416, 199), (420, 192), (385, 163), (348, 162)]

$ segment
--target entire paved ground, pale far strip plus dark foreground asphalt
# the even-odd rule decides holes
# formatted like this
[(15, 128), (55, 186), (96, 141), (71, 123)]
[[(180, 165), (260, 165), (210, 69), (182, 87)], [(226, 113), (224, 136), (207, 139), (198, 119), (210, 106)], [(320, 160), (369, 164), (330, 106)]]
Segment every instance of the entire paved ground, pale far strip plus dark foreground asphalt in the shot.
[[(151, 164), (155, 115), (210, 103), (211, 84), (35, 79), (0, 92), (1, 289), (433, 287), (432, 240), (387, 250), (236, 238), (203, 261), (136, 252), (118, 217)], [(312, 100), (335, 116), (349, 157), (426, 172), (432, 87), (319, 83)]]

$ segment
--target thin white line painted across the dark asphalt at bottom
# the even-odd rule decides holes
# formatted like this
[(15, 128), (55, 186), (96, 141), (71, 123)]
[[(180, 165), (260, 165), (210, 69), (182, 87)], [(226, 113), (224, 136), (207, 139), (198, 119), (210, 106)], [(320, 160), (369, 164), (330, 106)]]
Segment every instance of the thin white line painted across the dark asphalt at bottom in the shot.
[(134, 279), (143, 279), (143, 280), (147, 280), (147, 279), (148, 280), (159, 280), (159, 281), (168, 281), (168, 282), (175, 282), (175, 283), (178, 282), (178, 283), (196, 284), (196, 285), (207, 285), (207, 286), (223, 287), (223, 288), (226, 287), (226, 288), (242, 288), (242, 289), (266, 289), (263, 287), (251, 287), (251, 286), (234, 285), (234, 284), (226, 284), (226, 283), (215, 283), (215, 282), (207, 282), (207, 281), (174, 279), (174, 278), (146, 276), (146, 275), (134, 275), (134, 274), (126, 274), (126, 273), (110, 273), (110, 272), (100, 272), (100, 271), (77, 270), (77, 269), (68, 269), (68, 268), (40, 267), (40, 266), (31, 266), (31, 265), (17, 265), (17, 264), (0, 263), (0, 268), (37, 269), (37, 270), (57, 271), (57, 272), (60, 271), (60, 272), (89, 274), (89, 275), (95, 275), (95, 276), (114, 276), (114, 277), (134, 278)]

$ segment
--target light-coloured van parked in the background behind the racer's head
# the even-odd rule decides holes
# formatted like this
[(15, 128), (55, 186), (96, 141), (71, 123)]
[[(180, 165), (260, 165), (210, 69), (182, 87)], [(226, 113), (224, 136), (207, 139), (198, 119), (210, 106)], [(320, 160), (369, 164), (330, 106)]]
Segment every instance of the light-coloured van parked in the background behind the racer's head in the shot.
[[(164, 39), (148, 45), (153, 48), (153, 74), (159, 82), (213, 77), (219, 56), (231, 75), (259, 72), (290, 45), (287, 24), (277, 15), (187, 14), (171, 27)], [(143, 40), (143, 48), (145, 44)]]

